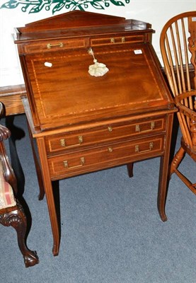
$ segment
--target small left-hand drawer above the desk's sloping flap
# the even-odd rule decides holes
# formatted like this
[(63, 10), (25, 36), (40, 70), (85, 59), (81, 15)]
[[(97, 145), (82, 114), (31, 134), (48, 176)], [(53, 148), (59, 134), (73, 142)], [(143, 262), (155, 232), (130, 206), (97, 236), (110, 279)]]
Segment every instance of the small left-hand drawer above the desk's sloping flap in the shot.
[(45, 42), (38, 42), (24, 45), (25, 53), (37, 53), (57, 50), (67, 50), (72, 48), (86, 47), (86, 40), (47, 40)]

